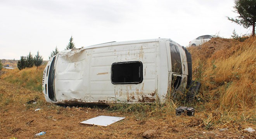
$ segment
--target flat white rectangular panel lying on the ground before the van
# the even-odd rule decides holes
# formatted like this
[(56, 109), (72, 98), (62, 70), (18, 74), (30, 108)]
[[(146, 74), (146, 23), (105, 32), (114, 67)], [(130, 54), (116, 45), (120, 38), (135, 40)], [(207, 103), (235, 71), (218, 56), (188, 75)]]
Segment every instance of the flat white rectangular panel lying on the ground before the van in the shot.
[(117, 122), (119, 120), (123, 120), (125, 117), (113, 117), (113, 116), (98, 116), (92, 119), (85, 120), (80, 122), (81, 124), (90, 124), (90, 125), (100, 125), (100, 126), (108, 126)]

